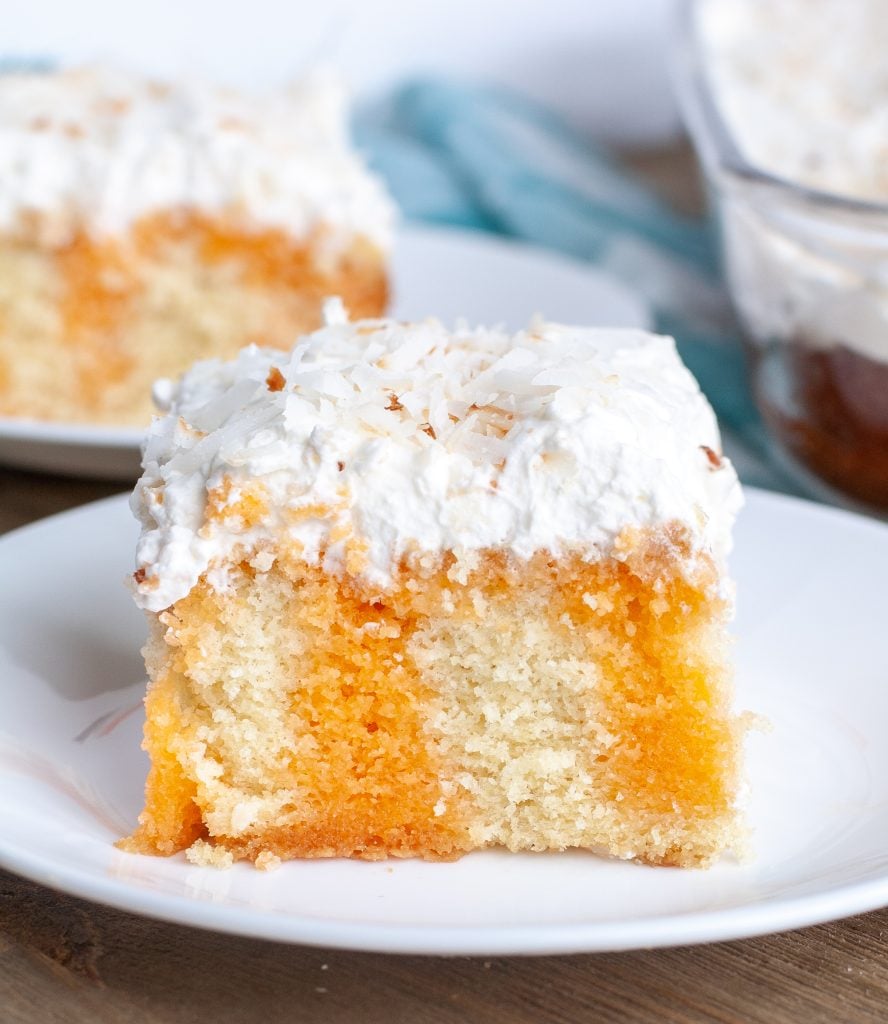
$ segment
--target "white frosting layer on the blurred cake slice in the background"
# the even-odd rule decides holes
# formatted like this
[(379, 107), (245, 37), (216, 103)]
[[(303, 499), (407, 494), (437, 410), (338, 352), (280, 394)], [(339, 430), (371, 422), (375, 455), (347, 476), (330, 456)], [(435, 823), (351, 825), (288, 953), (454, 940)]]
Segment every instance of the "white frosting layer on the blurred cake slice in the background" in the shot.
[(0, 181), (0, 229), (36, 217), (50, 244), (188, 209), (385, 248), (393, 217), (349, 147), (341, 88), (321, 74), (268, 95), (108, 68), (2, 75)]

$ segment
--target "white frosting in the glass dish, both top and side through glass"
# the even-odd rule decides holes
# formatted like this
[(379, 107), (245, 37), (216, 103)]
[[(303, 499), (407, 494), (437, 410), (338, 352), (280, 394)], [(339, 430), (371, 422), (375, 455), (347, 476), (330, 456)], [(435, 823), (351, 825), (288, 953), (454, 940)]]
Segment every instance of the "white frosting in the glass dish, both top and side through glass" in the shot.
[[(717, 104), (746, 158), (791, 181), (888, 201), (884, 0), (703, 0)], [(774, 194), (722, 204), (750, 333), (888, 361), (888, 217), (862, 222)]]

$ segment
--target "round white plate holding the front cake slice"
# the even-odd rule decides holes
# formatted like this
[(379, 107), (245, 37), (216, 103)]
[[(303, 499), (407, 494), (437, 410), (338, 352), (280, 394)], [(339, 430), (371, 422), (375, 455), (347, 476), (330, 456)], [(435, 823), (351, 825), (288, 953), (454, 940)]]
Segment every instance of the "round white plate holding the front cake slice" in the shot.
[(0, 865), (203, 928), (354, 949), (552, 953), (731, 939), (888, 904), (888, 527), (750, 492), (733, 557), (754, 859), (292, 861), (121, 853), (140, 809), (140, 614), (123, 498), (0, 540)]

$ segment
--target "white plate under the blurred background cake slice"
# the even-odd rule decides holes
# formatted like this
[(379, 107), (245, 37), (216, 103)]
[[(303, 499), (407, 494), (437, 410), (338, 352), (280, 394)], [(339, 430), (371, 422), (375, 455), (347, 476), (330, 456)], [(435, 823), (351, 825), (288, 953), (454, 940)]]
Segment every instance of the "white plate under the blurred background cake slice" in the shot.
[[(524, 327), (535, 313), (566, 324), (647, 327), (643, 302), (616, 279), (555, 253), (472, 231), (409, 227), (391, 262), (398, 319)], [(141, 430), (0, 417), (0, 464), (71, 476), (135, 479)]]

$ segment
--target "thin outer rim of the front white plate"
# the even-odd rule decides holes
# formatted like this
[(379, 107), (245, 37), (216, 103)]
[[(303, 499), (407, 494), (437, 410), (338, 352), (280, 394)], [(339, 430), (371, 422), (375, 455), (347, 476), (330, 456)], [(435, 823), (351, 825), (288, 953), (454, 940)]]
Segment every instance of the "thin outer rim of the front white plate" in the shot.
[[(828, 522), (852, 520), (883, 542), (886, 538), (882, 523), (855, 513), (754, 487), (747, 487), (746, 494), (755, 503), (789, 506), (802, 516)], [(125, 498), (126, 495), (116, 495), (29, 523), (0, 538), (0, 546), (69, 516), (121, 503)], [(0, 867), (73, 896), (172, 924), (267, 941), (405, 954), (549, 955), (694, 945), (789, 931), (888, 905), (886, 870), (880, 878), (838, 884), (815, 893), (765, 897), (728, 908), (669, 912), (626, 921), (480, 927), (365, 924), (258, 911), (141, 890), (114, 877), (59, 863), (3, 836), (0, 836)]]

